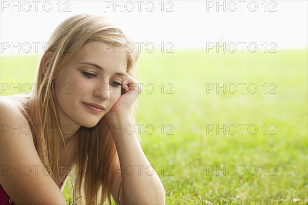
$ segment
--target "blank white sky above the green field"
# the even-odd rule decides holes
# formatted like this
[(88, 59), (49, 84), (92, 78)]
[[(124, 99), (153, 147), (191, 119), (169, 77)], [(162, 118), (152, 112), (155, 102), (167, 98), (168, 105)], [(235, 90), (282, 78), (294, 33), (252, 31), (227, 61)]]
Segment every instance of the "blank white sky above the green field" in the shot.
[[(148, 49), (307, 48), (308, 1), (1, 1), (1, 55), (40, 53), (78, 13), (107, 16)], [(217, 43), (220, 42), (220, 43)]]

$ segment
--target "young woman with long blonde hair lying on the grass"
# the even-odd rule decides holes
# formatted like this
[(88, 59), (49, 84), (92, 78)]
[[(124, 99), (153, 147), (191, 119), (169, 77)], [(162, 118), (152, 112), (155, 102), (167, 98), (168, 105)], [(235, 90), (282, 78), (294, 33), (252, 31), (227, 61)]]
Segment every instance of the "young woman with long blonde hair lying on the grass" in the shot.
[[(1, 97), (0, 204), (164, 204), (133, 131), (138, 52), (104, 17), (67, 18), (49, 39), (30, 95)], [(78, 202), (78, 201), (76, 201)]]

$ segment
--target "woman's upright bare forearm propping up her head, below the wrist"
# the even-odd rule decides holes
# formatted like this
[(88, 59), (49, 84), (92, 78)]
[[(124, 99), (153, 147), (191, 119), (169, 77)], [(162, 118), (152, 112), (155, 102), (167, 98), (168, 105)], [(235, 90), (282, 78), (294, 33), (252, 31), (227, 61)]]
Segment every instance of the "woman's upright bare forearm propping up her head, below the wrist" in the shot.
[(129, 116), (118, 117), (111, 123), (121, 165), (123, 203), (164, 204), (163, 185), (147, 160), (136, 134), (125, 129), (125, 126), (132, 127)]

